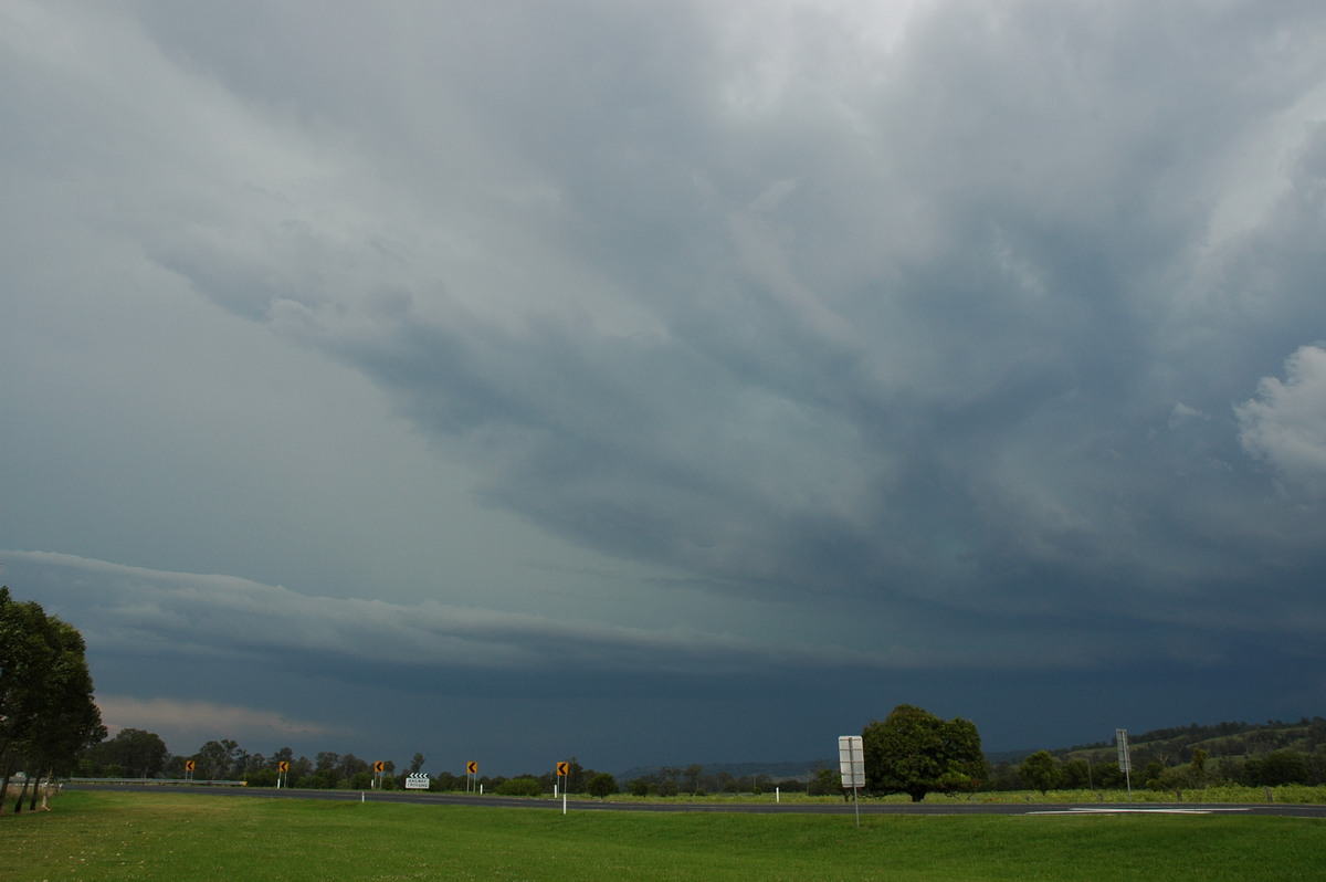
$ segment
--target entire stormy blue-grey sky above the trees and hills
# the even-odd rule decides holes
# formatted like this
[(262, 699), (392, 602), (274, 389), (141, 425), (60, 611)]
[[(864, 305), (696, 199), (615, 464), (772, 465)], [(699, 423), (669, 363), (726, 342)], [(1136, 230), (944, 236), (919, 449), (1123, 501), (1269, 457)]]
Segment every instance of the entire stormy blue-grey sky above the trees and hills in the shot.
[(460, 773), (1326, 704), (1326, 7), (0, 3), (0, 581)]

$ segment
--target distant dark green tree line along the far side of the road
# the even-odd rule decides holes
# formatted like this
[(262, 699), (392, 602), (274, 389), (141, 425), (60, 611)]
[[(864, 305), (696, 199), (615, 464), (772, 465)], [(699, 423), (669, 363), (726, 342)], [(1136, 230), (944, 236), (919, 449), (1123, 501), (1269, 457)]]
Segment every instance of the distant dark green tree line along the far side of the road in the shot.
[[(1303, 727), (1319, 728), (1319, 720), (1305, 720)], [(1187, 731), (1187, 729), (1184, 729)], [(1233, 736), (1240, 732), (1231, 733)], [(1277, 736), (1278, 737), (1278, 736)], [(991, 765), (981, 752), (976, 725), (961, 718), (943, 720), (928, 711), (899, 704), (884, 720), (871, 722), (862, 731), (866, 760), (866, 788), (862, 796), (907, 793), (920, 801), (930, 793), (951, 797), (971, 796), (979, 790), (1055, 789), (1106, 790), (1126, 787), (1113, 747), (1075, 748), (1075, 753), (1037, 751), (1021, 761)], [(1278, 743), (1262, 739), (1258, 743)], [(1302, 733), (1296, 737), (1306, 744)], [(1217, 784), (1274, 787), (1280, 784), (1326, 784), (1326, 749), (1305, 753), (1280, 749), (1257, 756), (1212, 756), (1204, 748), (1171, 753), (1154, 752), (1152, 745), (1134, 747), (1132, 785), (1159, 790), (1185, 789)], [(385, 789), (404, 788), (406, 777), (424, 764), (415, 753), (408, 765), (398, 771), (394, 761), (385, 763), (385, 772), (375, 773), (373, 763), (354, 753), (320, 752), (312, 760), (281, 748), (271, 756), (249, 753), (233, 740), (207, 741), (195, 753), (172, 756), (159, 736), (142, 729), (122, 729), (115, 737), (89, 747), (81, 756), (80, 772), (107, 777), (186, 777), (186, 763), (194, 763), (198, 780), (244, 780), (252, 787), (274, 787), (278, 777), (285, 787), (318, 789)], [(288, 772), (278, 771), (281, 763)], [(434, 790), (457, 792), (480, 787), (487, 793), (503, 796), (541, 796), (554, 790), (611, 796), (625, 789), (638, 797), (704, 796), (709, 793), (784, 793), (842, 794), (838, 769), (812, 769), (796, 779), (768, 775), (735, 776), (727, 771), (707, 772), (700, 764), (660, 767), (619, 785), (613, 775), (585, 768), (574, 757), (568, 763), (569, 775), (558, 777), (549, 769), (512, 777), (439, 772), (431, 776)]]

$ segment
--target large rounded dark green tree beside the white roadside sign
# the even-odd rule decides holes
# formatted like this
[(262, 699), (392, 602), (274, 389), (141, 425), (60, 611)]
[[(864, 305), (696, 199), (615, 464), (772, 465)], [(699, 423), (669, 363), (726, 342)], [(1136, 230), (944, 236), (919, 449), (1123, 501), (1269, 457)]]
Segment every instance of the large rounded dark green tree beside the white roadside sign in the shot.
[(883, 722), (862, 731), (866, 789), (907, 793), (920, 802), (931, 790), (973, 789), (985, 775), (976, 725), (961, 718), (941, 720), (912, 704), (899, 704)]

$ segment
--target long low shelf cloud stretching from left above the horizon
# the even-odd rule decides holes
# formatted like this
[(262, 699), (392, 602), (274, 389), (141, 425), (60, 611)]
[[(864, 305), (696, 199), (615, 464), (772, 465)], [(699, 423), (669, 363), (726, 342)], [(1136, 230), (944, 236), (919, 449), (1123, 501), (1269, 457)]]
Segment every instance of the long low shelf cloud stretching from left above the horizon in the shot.
[[(468, 672), (640, 670), (697, 678), (758, 666), (896, 663), (834, 646), (769, 647), (701, 631), (644, 631), (591, 622), (377, 599), (309, 597), (229, 576), (164, 573), (70, 554), (9, 550), (3, 560), (44, 586), (52, 611), (80, 619), (113, 654), (452, 668)], [(333, 662), (339, 658), (341, 661)]]

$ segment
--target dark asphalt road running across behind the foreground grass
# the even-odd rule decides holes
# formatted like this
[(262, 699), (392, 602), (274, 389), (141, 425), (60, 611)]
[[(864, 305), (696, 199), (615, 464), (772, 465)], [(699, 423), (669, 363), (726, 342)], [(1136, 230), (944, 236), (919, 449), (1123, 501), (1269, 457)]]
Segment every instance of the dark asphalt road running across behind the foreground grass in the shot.
[[(473, 808), (508, 808), (561, 810), (562, 800), (508, 796), (467, 796), (460, 793), (426, 793), (415, 790), (301, 790), (259, 787), (191, 787), (171, 784), (70, 784), (77, 790), (127, 790), (141, 793), (206, 793), (208, 796), (276, 797), (289, 800), (332, 800), (412, 802), (415, 805), (468, 805)], [(1278, 802), (955, 802), (940, 798), (932, 802), (861, 802), (862, 814), (1264, 814), (1281, 817), (1326, 818), (1326, 805), (1289, 805)], [(851, 802), (610, 802), (602, 800), (566, 800), (568, 812), (715, 812), (743, 814), (855, 814)]]

